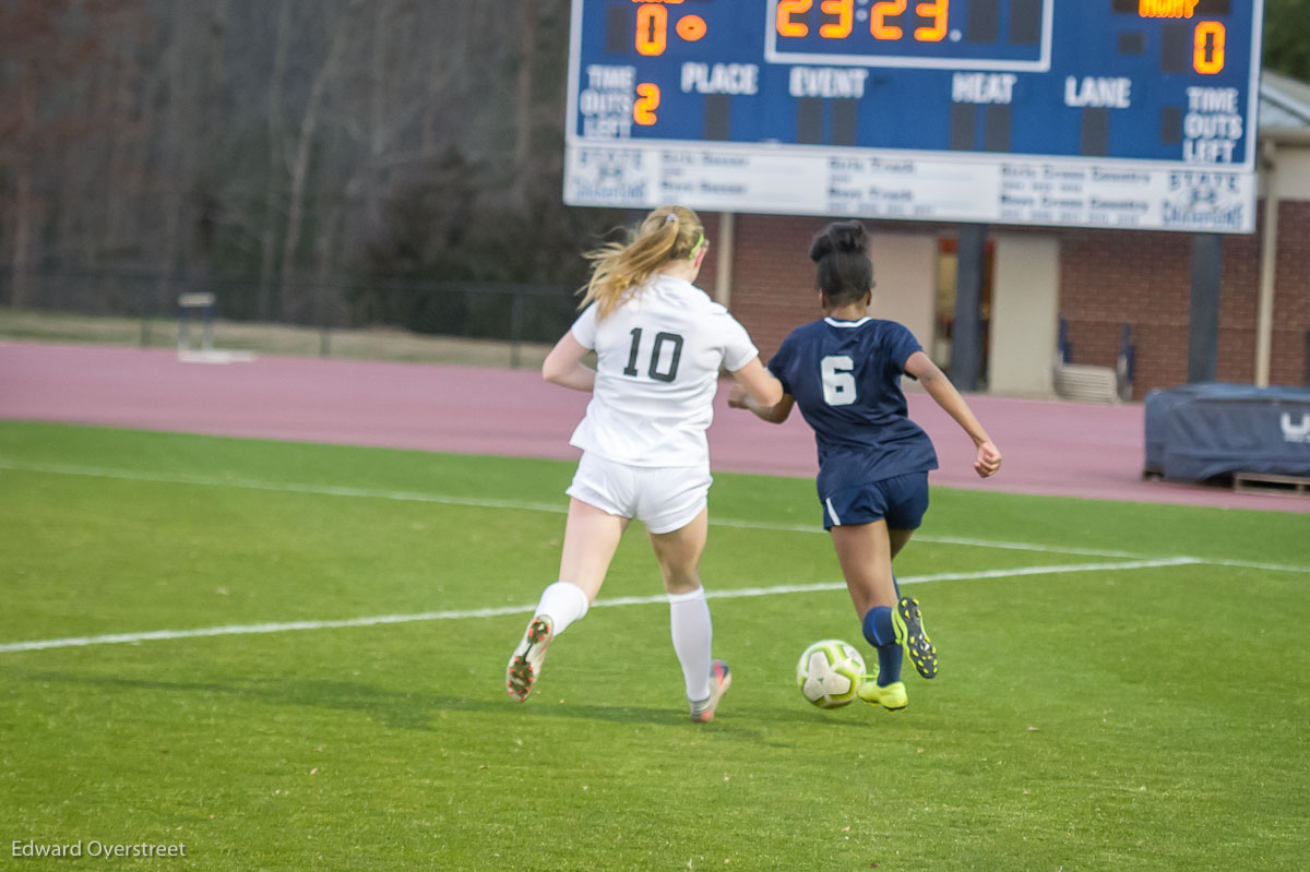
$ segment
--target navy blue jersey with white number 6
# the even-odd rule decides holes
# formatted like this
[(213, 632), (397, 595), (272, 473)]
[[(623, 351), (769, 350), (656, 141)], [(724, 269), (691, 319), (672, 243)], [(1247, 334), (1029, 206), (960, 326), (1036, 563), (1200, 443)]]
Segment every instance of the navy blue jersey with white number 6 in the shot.
[(922, 346), (895, 321), (824, 318), (782, 342), (769, 372), (815, 431), (820, 499), (833, 490), (937, 469), (937, 452), (907, 415), (900, 380)]

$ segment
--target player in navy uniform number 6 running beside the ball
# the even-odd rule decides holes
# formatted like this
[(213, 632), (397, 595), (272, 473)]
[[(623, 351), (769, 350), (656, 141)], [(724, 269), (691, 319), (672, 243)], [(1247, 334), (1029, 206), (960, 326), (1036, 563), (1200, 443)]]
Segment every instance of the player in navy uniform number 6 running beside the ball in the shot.
[[(769, 361), (782, 401), (762, 406), (734, 389), (728, 403), (781, 424), (799, 406), (819, 446), (823, 524), (869, 644), (878, 649), (876, 681), (859, 695), (891, 711), (905, 708), (901, 656), (925, 678), (937, 674), (937, 648), (924, 630), (917, 600), (900, 596), (892, 559), (927, 509), (927, 473), (937, 453), (907, 415), (903, 374), (917, 378), (977, 448), (982, 478), (1001, 469), (1001, 452), (951, 381), (895, 321), (870, 317), (874, 275), (859, 221), (829, 224), (810, 246), (817, 264), (824, 318), (791, 331)], [(869, 676), (872, 678), (874, 676)]]

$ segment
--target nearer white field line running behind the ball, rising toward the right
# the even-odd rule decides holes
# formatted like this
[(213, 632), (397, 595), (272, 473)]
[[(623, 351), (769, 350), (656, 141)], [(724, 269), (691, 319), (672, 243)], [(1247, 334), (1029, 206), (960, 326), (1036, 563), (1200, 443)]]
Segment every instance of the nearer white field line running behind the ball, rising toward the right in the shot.
[[(935, 572), (912, 575), (897, 579), (900, 584), (922, 584), (925, 581), (972, 581), (979, 579), (1009, 579), (1024, 575), (1064, 575), (1068, 572), (1124, 572), (1128, 570), (1150, 570), (1165, 566), (1186, 566), (1196, 563), (1188, 558), (1163, 558), (1158, 560), (1132, 560), (1116, 563), (1065, 563), (1056, 566), (1026, 566), (1015, 570), (982, 570), (979, 572)], [(844, 581), (817, 584), (781, 584), (769, 588), (735, 588), (728, 590), (706, 590), (713, 600), (740, 600), (748, 597), (769, 597), (785, 593), (816, 593), (821, 590), (845, 590)], [(596, 600), (592, 609), (604, 606), (658, 605), (668, 602), (665, 594), (651, 597), (613, 597)], [(341, 621), (284, 621), (279, 623), (246, 623), (223, 627), (198, 627), (195, 630), (149, 630), (145, 632), (115, 632), (101, 636), (71, 636), (66, 639), (33, 639), (30, 642), (9, 642), (0, 644), (0, 653), (20, 651), (45, 651), (48, 648), (80, 648), (85, 645), (113, 645), (164, 639), (195, 639), (200, 636), (241, 636), (270, 632), (295, 632), (297, 630), (335, 630), (341, 627), (372, 627), (385, 623), (414, 623), (417, 621), (464, 621), (469, 618), (496, 618), (507, 614), (532, 614), (536, 604), (496, 606), (493, 609), (468, 609), (462, 611), (419, 611), (415, 614), (383, 614), (371, 618), (346, 618)]]

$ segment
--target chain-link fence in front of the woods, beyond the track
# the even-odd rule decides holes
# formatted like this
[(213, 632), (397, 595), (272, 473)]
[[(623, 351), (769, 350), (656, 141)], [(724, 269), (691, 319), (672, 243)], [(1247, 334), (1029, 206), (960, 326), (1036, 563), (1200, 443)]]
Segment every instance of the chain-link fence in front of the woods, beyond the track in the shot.
[[(16, 293), (0, 268), (0, 335), (166, 346), (179, 338), (182, 295), (212, 295), (219, 344), (270, 354), (439, 359), (447, 342), (482, 350), (472, 363), (533, 365), (576, 317), (570, 288), (503, 282), (326, 280), (261, 283), (159, 270), (43, 270)], [(194, 297), (193, 297), (194, 299)], [(389, 347), (388, 347), (389, 346)], [(500, 352), (498, 355), (490, 350)]]

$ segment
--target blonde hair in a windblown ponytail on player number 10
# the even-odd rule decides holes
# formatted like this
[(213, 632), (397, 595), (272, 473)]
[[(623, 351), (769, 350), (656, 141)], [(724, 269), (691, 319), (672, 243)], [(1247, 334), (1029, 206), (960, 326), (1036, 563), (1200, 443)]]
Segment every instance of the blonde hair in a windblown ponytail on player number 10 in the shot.
[(630, 293), (646, 284), (671, 261), (694, 258), (705, 241), (696, 212), (683, 206), (662, 206), (629, 233), (627, 242), (609, 242), (583, 254), (592, 262), (579, 309), (592, 302), (604, 319)]

